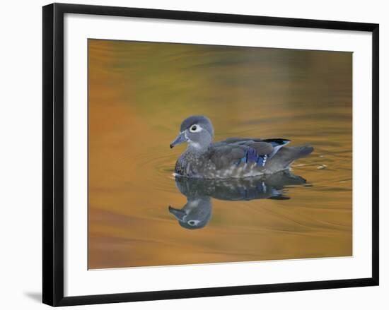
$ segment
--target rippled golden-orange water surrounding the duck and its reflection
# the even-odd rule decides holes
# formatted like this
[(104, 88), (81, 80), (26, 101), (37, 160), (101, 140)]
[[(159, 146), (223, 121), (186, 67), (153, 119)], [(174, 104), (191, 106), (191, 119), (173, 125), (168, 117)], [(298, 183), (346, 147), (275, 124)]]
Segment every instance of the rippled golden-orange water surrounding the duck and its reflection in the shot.
[[(202, 229), (168, 212), (186, 197), (169, 144), (192, 114), (215, 140), (288, 138), (307, 184), (288, 200), (222, 201)], [(352, 54), (88, 41), (88, 268), (352, 255)]]

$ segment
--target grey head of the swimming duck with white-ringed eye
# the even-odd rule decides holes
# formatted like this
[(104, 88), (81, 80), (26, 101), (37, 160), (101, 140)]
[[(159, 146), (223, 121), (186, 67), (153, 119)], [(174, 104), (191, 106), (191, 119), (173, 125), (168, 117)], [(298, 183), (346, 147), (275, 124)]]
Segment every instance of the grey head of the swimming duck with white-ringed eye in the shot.
[(170, 148), (187, 142), (188, 148), (201, 152), (207, 150), (213, 139), (214, 127), (211, 121), (201, 115), (192, 116), (182, 121), (180, 133), (170, 144)]

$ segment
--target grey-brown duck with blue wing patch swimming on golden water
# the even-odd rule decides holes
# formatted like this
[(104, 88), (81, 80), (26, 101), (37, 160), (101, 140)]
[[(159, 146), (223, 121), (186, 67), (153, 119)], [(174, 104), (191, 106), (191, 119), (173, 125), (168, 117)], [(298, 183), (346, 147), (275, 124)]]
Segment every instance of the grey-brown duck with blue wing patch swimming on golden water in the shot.
[(187, 143), (175, 163), (175, 175), (200, 179), (257, 177), (290, 169), (313, 152), (310, 145), (288, 146), (285, 138), (226, 138), (214, 143), (214, 126), (203, 115), (182, 121), (170, 148)]

